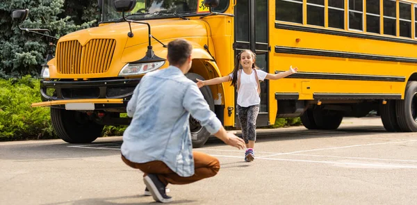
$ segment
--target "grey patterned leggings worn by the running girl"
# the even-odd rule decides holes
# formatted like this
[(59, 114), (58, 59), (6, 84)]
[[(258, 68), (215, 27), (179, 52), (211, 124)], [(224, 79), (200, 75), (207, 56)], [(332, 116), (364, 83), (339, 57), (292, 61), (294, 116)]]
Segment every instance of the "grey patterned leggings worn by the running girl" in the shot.
[(240, 126), (242, 127), (242, 137), (245, 143), (249, 140), (256, 141), (256, 117), (259, 113), (259, 105), (241, 107), (237, 106)]

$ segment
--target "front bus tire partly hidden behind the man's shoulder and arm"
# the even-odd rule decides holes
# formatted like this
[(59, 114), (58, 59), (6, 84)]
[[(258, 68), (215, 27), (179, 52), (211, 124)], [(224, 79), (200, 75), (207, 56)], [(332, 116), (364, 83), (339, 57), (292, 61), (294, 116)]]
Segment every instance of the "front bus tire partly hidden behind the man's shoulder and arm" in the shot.
[[(188, 73), (186, 74), (186, 77), (194, 82), (197, 82), (196, 79), (200, 79), (202, 81), (205, 80), (202, 76), (195, 73)], [(214, 99), (213, 95), (211, 95), (211, 89), (208, 86), (203, 86), (200, 88), (200, 91), (202, 92), (204, 99), (206, 99), (210, 110), (214, 112)], [(206, 144), (208, 138), (210, 137), (210, 133), (206, 130), (206, 128), (204, 128), (204, 126), (201, 126), (199, 122), (193, 118), (193, 116), (190, 116), (189, 122), (191, 138), (194, 139), (192, 140), (193, 148), (202, 147), (204, 144)]]

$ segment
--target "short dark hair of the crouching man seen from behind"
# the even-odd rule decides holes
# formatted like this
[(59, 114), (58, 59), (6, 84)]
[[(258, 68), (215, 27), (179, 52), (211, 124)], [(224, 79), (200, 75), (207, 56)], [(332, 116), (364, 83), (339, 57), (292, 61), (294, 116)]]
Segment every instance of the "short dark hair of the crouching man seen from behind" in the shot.
[(183, 39), (173, 40), (168, 43), (168, 61), (170, 65), (183, 65), (190, 57), (193, 46)]

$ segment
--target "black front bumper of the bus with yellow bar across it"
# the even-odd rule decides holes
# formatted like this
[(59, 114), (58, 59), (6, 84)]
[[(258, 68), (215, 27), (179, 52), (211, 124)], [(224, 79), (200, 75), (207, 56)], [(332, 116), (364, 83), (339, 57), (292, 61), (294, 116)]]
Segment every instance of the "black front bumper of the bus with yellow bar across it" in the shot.
[(42, 102), (31, 106), (67, 110), (125, 109), (139, 82), (140, 79), (40, 81)]

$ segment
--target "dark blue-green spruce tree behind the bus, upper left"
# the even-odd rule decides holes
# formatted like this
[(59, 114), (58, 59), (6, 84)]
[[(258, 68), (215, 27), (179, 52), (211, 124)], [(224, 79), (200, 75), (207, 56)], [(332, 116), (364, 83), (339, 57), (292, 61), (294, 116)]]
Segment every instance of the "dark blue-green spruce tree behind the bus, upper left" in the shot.
[[(83, 3), (81, 3), (83, 2)], [(13, 22), (13, 9), (29, 9), (20, 24), (23, 28), (47, 28), (60, 38), (67, 33), (93, 26), (97, 3), (81, 0), (3, 0), (0, 1), (0, 78), (31, 74), (38, 76), (47, 54), (47, 40), (35, 33), (20, 31)], [(78, 5), (78, 6), (75, 6)], [(64, 6), (74, 6), (67, 9)], [(75, 20), (74, 20), (75, 19)], [(76, 23), (75, 23), (76, 22)]]

